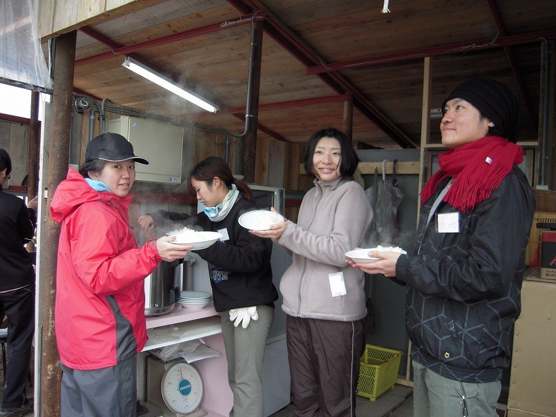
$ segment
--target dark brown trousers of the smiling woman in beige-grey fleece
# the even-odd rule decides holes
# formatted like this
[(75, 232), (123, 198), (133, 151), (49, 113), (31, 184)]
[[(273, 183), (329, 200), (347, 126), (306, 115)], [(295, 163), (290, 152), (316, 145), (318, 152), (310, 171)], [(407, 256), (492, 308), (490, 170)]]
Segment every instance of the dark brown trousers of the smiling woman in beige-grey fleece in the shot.
[(365, 319), (286, 316), (293, 411), (298, 417), (354, 417)]

